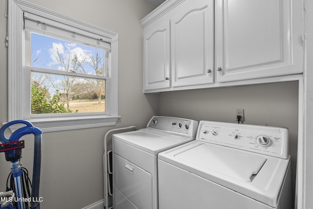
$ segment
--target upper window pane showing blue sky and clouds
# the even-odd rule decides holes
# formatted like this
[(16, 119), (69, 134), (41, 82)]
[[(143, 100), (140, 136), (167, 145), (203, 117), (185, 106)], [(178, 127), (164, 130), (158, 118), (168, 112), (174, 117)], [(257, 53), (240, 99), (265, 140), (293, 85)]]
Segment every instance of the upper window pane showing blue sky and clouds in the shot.
[(104, 76), (105, 50), (31, 33), (31, 66)]

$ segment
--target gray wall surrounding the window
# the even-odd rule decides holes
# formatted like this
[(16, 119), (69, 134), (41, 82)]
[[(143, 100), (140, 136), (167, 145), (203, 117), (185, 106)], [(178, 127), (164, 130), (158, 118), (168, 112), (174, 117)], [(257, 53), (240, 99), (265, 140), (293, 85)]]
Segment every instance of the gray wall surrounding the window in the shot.
[[(142, 29), (139, 21), (155, 7), (143, 0), (28, 0), (78, 20), (119, 34), (119, 115), (116, 126), (43, 134), (40, 196), (42, 208), (84, 208), (104, 198), (103, 138), (117, 127), (143, 128), (158, 114), (157, 94), (143, 94)], [(1, 14), (5, 0), (0, 1)], [(7, 122), (7, 48), (4, 46), (6, 20), (0, 18), (0, 123)], [(26, 136), (23, 166), (32, 170), (33, 137)], [(10, 163), (0, 153), (0, 191)]]

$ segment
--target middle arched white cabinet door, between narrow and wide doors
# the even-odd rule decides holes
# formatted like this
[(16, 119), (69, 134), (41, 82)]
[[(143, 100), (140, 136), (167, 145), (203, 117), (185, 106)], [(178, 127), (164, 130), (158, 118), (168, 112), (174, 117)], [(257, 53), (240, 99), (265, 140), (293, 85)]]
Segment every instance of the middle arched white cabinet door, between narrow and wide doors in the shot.
[(214, 1), (185, 0), (171, 18), (172, 86), (214, 82)]

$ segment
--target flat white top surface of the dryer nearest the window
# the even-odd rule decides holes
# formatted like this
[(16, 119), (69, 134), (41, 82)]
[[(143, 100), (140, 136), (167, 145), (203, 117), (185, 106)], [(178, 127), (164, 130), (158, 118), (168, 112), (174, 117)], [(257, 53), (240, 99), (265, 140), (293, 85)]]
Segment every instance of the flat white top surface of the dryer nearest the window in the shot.
[(168, 134), (149, 128), (114, 134), (112, 139), (122, 141), (153, 155), (157, 155), (164, 150), (195, 140), (195, 138)]

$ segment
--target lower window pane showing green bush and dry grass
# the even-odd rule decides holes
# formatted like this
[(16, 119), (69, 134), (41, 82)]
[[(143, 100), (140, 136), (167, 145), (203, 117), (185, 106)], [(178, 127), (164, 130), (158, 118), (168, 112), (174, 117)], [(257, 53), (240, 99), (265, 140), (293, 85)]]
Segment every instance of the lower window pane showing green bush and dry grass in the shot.
[(105, 80), (31, 74), (31, 114), (106, 111)]

